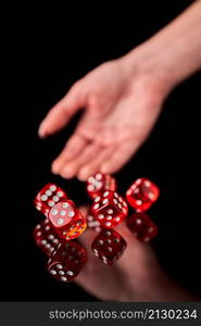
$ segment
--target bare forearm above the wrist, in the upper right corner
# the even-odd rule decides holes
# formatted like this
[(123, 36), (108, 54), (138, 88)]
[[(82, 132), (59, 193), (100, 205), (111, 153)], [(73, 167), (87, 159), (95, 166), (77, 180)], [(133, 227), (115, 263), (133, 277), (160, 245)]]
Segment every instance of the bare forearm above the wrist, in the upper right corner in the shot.
[[(124, 57), (172, 89), (201, 67), (201, 0)], [(143, 62), (143, 66), (140, 63)]]

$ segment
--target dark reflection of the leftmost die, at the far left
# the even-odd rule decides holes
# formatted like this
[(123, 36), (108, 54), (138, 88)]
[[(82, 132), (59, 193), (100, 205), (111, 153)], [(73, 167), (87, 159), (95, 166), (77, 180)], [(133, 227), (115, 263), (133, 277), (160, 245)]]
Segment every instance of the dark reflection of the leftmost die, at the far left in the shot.
[(47, 218), (35, 227), (34, 239), (36, 241), (36, 244), (47, 255), (51, 255), (51, 253), (58, 248), (61, 242), (61, 239), (59, 239), (58, 234)]

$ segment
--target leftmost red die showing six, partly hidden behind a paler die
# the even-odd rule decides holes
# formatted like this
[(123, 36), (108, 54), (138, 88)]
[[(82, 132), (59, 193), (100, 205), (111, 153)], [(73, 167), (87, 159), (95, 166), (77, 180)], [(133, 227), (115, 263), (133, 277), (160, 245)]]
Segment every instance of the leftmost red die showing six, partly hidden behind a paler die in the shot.
[(35, 198), (35, 206), (48, 217), (48, 213), (56, 202), (67, 198), (66, 193), (54, 184), (46, 185)]

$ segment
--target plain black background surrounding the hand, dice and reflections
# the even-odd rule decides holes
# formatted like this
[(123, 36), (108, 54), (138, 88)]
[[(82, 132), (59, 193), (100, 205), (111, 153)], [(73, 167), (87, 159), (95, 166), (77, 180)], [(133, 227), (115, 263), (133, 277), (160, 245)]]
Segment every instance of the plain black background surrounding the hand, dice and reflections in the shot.
[[(177, 2), (177, 4), (175, 4)], [(80, 8), (12, 8), (4, 26), (8, 86), (1, 120), (0, 299), (16, 301), (90, 301), (75, 284), (60, 285), (46, 272), (46, 259), (32, 231), (41, 216), (33, 205), (48, 181), (64, 187), (77, 204), (85, 185), (50, 173), (52, 160), (78, 117), (56, 136), (40, 140), (37, 129), (70, 86), (100, 63), (118, 58), (167, 24), (191, 1)], [(53, 11), (52, 11), (53, 9)], [(12, 15), (11, 15), (12, 14)], [(10, 27), (8, 32), (7, 27)], [(200, 260), (200, 97), (199, 74), (179, 85), (146, 145), (116, 175), (120, 192), (139, 176), (153, 179), (161, 198), (150, 215), (160, 234), (153, 241), (161, 264), (178, 283), (201, 296)], [(3, 128), (5, 127), (5, 128)], [(135, 271), (134, 271), (135, 273)]]

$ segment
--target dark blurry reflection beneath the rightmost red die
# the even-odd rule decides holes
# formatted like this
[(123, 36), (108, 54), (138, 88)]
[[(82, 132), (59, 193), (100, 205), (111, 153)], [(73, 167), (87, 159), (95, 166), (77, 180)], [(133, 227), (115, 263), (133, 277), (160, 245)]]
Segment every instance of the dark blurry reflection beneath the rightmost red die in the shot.
[(156, 225), (146, 213), (135, 213), (126, 222), (134, 236), (142, 242), (148, 242), (158, 234)]

